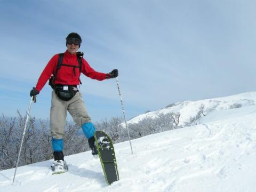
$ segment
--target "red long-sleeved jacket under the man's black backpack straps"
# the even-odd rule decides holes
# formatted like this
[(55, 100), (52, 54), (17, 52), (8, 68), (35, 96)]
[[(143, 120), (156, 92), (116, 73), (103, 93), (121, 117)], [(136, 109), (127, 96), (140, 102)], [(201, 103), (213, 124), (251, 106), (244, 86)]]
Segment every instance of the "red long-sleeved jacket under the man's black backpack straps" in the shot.
[[(55, 54), (52, 59), (47, 63), (46, 67), (44, 68), (41, 76), (38, 79), (36, 84), (36, 89), (41, 91), (47, 82), (47, 80), (51, 77), (52, 74), (55, 73), (55, 70), (58, 65), (59, 54)], [(64, 53), (62, 64), (67, 65), (74, 65), (79, 66), (77, 61), (76, 54), (71, 55), (68, 51)], [(74, 73), (74, 67), (68, 66), (61, 66), (58, 70), (57, 78), (55, 79), (55, 84), (62, 84), (62, 85), (78, 85), (79, 84), (79, 67), (75, 68), (76, 73)], [(102, 81), (106, 79), (105, 73), (99, 73), (95, 71), (90, 65), (87, 63), (85, 59), (82, 61), (82, 73), (87, 77), (92, 79), (97, 79)]]

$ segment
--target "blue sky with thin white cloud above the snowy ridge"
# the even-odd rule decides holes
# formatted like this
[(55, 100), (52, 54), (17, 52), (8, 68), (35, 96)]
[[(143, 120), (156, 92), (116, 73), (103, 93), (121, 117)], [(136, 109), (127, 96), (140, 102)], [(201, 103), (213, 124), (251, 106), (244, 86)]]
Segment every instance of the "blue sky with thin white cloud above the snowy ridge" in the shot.
[[(255, 1), (1, 1), (0, 106), (26, 113), (29, 92), (71, 32), (97, 71), (119, 70), (127, 118), (173, 102), (255, 90)], [(115, 79), (85, 76), (93, 121), (122, 116)], [(31, 115), (50, 116), (45, 85)]]

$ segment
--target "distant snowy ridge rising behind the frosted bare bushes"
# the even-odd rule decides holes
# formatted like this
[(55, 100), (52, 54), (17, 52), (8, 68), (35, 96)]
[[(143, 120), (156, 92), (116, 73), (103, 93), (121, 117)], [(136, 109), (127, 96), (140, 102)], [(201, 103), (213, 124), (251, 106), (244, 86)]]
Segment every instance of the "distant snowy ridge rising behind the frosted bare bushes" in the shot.
[[(172, 112), (180, 111), (180, 125), (183, 125), (190, 117), (196, 115), (201, 105), (204, 105), (205, 114), (211, 111), (226, 110), (232, 108), (252, 106), (256, 104), (256, 92), (247, 92), (242, 94), (231, 95), (229, 97), (205, 99), (198, 101), (184, 101), (173, 103), (166, 107), (156, 111), (150, 111), (149, 113), (139, 115), (127, 121), (127, 123), (138, 123), (145, 117), (155, 118), (159, 114), (168, 114)], [(125, 124), (124, 124), (125, 125)]]

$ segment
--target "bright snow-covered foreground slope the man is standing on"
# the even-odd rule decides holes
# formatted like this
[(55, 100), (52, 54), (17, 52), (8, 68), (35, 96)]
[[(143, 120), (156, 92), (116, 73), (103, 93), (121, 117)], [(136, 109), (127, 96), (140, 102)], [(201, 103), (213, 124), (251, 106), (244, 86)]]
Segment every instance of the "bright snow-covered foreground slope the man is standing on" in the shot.
[(88, 151), (65, 157), (69, 172), (64, 174), (51, 174), (52, 161), (35, 163), (19, 167), (12, 185), (14, 169), (1, 171), (0, 190), (255, 191), (255, 93), (230, 99), (236, 97), (242, 107), (230, 109), (233, 101), (222, 100), (202, 124), (132, 140), (133, 155), (129, 142), (116, 144), (120, 180), (111, 186)]

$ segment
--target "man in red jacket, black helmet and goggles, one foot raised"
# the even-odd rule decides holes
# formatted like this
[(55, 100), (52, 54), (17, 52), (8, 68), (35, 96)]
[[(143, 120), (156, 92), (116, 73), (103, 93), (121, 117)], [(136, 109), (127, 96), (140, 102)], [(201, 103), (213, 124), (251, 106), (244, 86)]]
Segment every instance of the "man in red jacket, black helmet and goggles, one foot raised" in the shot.
[[(52, 86), (52, 101), (50, 113), (50, 130), (52, 136), (52, 149), (54, 155), (54, 166), (64, 166), (63, 137), (67, 111), (73, 117), (75, 123), (82, 127), (85, 137), (88, 139), (92, 149), (92, 155), (97, 155), (98, 151), (94, 145), (95, 128), (91, 123), (91, 118), (87, 113), (81, 93), (77, 89), (80, 82), (80, 74), (102, 81), (118, 76), (118, 70), (114, 69), (110, 73), (99, 73), (89, 66), (87, 61), (81, 57), (81, 52), (77, 52), (81, 46), (82, 38), (77, 33), (70, 33), (66, 38), (67, 51), (55, 54), (47, 63), (36, 87), (30, 91), (33, 97), (43, 89), (49, 79)], [(59, 65), (58, 65), (59, 63)], [(60, 65), (61, 64), (61, 65)], [(55, 169), (56, 170), (56, 169)]]

